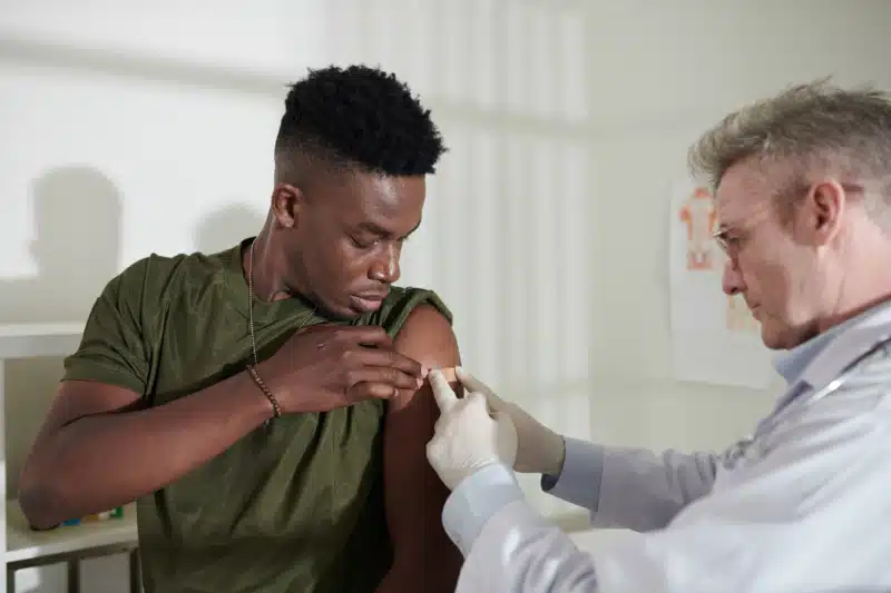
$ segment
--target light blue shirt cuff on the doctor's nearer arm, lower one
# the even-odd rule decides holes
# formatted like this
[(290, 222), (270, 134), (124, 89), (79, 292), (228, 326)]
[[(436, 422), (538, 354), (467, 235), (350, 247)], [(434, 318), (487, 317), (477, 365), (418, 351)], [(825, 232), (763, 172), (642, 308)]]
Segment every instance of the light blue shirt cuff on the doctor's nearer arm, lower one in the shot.
[(467, 556), (492, 515), (521, 500), (522, 491), (513, 472), (500, 463), (492, 464), (458, 484), (442, 508), (442, 525)]

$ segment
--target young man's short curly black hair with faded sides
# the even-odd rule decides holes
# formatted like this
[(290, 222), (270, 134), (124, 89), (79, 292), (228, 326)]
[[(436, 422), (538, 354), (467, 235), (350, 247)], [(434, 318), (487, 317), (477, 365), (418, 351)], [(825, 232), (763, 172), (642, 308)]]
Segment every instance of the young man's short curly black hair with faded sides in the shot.
[(294, 159), (391, 177), (434, 174), (446, 152), (439, 130), (409, 87), (366, 66), (310, 70), (291, 86), (275, 139), (276, 175)]

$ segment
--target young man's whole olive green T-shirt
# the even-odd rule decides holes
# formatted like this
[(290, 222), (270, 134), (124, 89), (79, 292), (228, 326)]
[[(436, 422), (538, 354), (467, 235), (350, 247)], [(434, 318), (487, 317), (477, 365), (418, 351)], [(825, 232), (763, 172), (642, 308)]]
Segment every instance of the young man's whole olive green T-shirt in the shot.
[[(150, 406), (187, 397), (251, 362), (242, 249), (151, 255), (94, 305), (66, 379), (143, 394)], [(350, 325), (395, 335), (429, 290), (394, 288)], [(260, 358), (311, 315), (297, 298), (254, 300)], [(312, 316), (306, 325), (325, 322)], [(261, 426), (137, 503), (146, 593), (371, 593), (390, 566), (383, 507), (385, 405), (369, 401)], [(163, 463), (163, 461), (161, 461)], [(108, 468), (114, 472), (114, 467)]]

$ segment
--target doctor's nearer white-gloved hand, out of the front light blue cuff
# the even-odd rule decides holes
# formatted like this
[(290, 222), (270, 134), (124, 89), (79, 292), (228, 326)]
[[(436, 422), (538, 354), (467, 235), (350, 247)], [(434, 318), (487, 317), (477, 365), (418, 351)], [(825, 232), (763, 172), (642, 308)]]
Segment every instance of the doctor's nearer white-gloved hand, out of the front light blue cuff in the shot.
[(471, 393), (459, 399), (446, 377), (431, 370), (430, 385), (440, 409), (427, 458), (449, 490), (495, 463), (513, 465), (517, 431), (506, 415), (492, 417), (486, 396)]

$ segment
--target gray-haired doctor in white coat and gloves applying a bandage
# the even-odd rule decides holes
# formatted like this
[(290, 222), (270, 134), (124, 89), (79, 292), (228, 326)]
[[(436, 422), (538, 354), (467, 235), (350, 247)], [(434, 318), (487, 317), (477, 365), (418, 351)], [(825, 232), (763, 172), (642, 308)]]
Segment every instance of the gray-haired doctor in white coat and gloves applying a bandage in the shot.
[[(716, 187), (724, 291), (785, 350), (786, 393), (723, 454), (654, 455), (562, 437), (463, 372), (459, 401), (434, 373), (459, 593), (891, 591), (891, 98), (794, 87), (691, 157)], [(578, 550), (511, 467), (633, 531)]]

